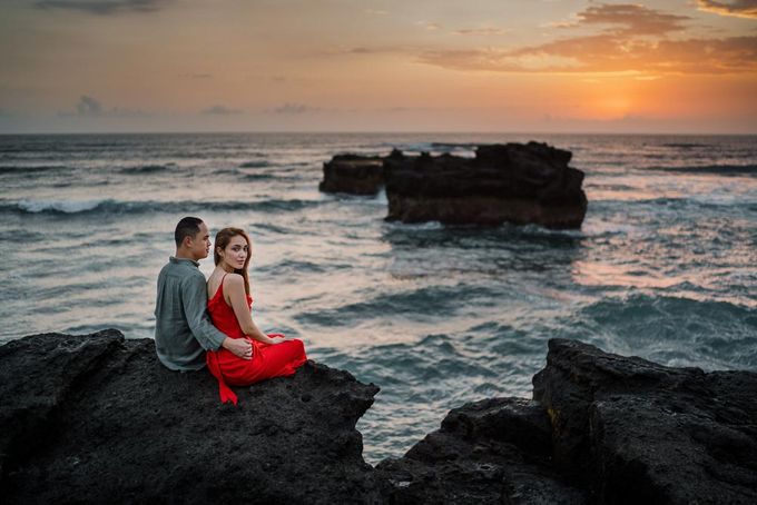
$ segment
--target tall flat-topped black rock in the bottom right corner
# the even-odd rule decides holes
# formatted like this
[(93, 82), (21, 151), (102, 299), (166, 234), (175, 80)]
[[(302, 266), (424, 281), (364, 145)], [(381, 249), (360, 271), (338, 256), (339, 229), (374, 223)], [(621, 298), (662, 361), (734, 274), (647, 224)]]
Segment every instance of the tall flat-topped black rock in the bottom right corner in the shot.
[(757, 374), (550, 340), (533, 385), (556, 464), (599, 503), (757, 503)]

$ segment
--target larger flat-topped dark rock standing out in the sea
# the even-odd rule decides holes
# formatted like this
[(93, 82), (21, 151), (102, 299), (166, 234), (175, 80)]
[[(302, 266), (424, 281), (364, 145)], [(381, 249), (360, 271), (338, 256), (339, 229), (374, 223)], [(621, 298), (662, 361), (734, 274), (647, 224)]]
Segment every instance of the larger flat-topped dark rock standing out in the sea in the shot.
[(384, 161), (389, 220), (579, 228), (587, 211), (583, 172), (571, 154), (545, 143), (480, 146), (475, 158), (449, 154)]

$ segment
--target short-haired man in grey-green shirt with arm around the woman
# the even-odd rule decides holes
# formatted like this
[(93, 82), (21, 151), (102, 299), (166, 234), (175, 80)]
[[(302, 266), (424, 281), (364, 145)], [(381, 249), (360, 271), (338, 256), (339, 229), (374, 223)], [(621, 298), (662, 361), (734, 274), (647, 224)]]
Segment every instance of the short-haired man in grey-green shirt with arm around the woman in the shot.
[(199, 260), (210, 251), (210, 234), (201, 219), (185, 217), (174, 231), (176, 255), (158, 275), (155, 304), (155, 349), (160, 363), (171, 370), (199, 370), (205, 350), (225, 347), (252, 359), (253, 347), (243, 338), (229, 338), (210, 323), (205, 276)]

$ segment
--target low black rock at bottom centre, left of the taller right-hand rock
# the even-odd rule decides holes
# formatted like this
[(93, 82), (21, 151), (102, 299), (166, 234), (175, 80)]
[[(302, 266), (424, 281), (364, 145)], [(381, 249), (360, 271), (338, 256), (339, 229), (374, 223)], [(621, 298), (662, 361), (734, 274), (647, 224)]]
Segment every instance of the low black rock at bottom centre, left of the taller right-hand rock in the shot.
[(549, 417), (535, 402), (490, 398), (452, 409), (404, 457), (385, 459), (394, 504), (583, 504), (551, 464)]

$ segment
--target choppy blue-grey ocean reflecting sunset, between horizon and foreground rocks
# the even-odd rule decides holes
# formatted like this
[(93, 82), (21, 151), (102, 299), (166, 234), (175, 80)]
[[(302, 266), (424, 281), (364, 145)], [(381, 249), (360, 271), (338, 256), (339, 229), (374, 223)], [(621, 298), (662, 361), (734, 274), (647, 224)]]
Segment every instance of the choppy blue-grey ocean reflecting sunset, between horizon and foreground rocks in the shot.
[[(580, 230), (386, 222), (383, 194), (318, 191), (340, 152), (528, 140), (586, 172)], [(110, 327), (151, 338), (156, 277), (187, 215), (250, 234), (264, 331), (381, 386), (357, 426), (370, 463), (452, 407), (530, 397), (550, 338), (757, 370), (755, 136), (0, 136), (0, 344)]]

